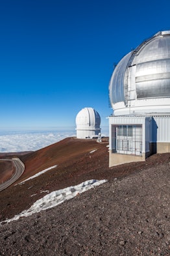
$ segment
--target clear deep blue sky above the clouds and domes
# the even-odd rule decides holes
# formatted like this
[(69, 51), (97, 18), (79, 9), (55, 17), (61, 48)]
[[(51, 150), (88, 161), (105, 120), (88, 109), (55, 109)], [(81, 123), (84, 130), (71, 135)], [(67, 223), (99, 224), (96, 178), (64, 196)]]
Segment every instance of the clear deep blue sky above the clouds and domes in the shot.
[(0, 130), (108, 124), (114, 63), (170, 29), (169, 0), (5, 0), (0, 6)]

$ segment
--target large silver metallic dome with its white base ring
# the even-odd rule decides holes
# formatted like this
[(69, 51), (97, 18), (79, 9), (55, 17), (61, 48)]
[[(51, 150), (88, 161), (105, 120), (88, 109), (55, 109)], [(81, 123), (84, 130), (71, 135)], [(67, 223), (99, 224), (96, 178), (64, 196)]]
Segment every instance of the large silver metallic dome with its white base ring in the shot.
[(114, 115), (170, 112), (170, 31), (156, 33), (121, 59), (109, 94)]

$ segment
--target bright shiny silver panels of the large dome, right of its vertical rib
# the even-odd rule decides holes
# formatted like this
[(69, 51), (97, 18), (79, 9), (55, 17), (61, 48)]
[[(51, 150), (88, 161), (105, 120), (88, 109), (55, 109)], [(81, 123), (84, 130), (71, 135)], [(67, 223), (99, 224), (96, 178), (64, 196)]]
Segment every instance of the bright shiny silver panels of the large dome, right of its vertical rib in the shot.
[(151, 39), (134, 57), (137, 98), (170, 96), (170, 36)]

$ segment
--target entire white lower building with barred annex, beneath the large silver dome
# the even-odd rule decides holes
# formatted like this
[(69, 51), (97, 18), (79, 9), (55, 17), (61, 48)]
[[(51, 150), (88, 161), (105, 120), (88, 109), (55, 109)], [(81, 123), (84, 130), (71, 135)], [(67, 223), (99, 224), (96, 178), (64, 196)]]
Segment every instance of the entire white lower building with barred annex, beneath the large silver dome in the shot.
[(109, 117), (109, 166), (170, 152), (170, 115)]

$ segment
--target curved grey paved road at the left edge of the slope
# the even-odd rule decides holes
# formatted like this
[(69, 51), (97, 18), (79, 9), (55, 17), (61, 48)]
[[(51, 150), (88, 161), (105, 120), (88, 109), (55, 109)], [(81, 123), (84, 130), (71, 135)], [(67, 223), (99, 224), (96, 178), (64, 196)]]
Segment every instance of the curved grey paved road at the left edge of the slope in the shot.
[(0, 161), (12, 161), (16, 169), (14, 175), (9, 180), (6, 180), (3, 184), (0, 184), (0, 192), (1, 192), (2, 190), (5, 190), (5, 188), (8, 188), (8, 186), (10, 186), (16, 180), (18, 180), (19, 177), (21, 177), (21, 175), (25, 170), (25, 165), (23, 164), (23, 162), (21, 162), (19, 158), (0, 159)]

